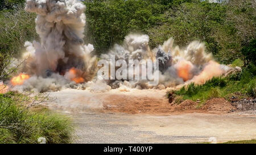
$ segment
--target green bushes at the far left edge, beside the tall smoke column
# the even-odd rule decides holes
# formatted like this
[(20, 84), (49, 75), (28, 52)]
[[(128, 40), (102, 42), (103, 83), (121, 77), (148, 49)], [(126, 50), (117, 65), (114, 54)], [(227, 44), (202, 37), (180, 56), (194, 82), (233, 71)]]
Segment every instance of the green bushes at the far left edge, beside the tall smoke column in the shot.
[[(8, 1), (9, 2), (9, 1)], [(14, 3), (14, 1), (10, 1)], [(19, 57), (24, 49), (27, 40), (34, 39), (35, 14), (28, 14), (24, 11), (23, 5), (16, 5), (14, 10), (0, 11), (0, 82), (10, 78), (16, 71), (15, 68), (8, 68), (13, 57)]]

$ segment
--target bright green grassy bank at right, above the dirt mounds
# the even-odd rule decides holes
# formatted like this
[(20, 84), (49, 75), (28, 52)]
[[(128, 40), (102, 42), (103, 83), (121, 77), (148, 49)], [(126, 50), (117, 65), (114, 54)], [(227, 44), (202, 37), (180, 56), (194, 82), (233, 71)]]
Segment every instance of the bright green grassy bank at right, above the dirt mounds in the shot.
[[(255, 97), (256, 76), (249, 69), (243, 69), (241, 73), (232, 74), (229, 77), (214, 77), (204, 85), (190, 83), (180, 90), (174, 91), (175, 95), (183, 100), (200, 99), (200, 104), (212, 98), (224, 97), (229, 99), (232, 94), (240, 94), (240, 97)], [(199, 106), (200, 106), (199, 104)]]

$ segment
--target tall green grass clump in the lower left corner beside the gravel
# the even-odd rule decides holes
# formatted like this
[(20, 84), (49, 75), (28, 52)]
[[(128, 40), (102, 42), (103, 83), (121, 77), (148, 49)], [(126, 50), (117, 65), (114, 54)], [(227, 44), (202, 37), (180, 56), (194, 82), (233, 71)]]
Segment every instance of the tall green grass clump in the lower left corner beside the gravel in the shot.
[(24, 110), (29, 98), (24, 95), (0, 94), (0, 143), (71, 143), (71, 120), (60, 114), (38, 108)]

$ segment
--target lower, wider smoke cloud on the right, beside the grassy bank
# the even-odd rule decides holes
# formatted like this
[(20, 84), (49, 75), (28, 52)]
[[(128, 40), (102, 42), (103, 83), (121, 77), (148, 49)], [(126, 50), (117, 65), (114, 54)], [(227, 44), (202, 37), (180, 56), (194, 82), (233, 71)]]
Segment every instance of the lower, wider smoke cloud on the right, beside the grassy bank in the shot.
[(127, 64), (129, 59), (158, 60), (159, 84), (149, 86), (148, 81), (145, 80), (108, 81), (112, 88), (165, 89), (189, 82), (202, 84), (230, 69), (215, 62), (212, 54), (206, 53), (205, 45), (199, 41), (193, 41), (184, 49), (174, 46), (172, 38), (155, 49), (150, 49), (148, 41), (147, 35), (130, 34), (125, 37), (123, 45), (114, 45), (113, 49), (110, 49), (108, 54), (101, 55), (101, 58), (109, 59), (110, 55), (115, 55), (116, 60), (123, 59)]

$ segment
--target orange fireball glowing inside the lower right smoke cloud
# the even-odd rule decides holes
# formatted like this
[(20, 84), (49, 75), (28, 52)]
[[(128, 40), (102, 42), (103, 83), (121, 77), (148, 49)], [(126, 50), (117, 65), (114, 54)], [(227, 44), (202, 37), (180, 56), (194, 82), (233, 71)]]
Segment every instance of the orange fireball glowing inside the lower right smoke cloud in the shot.
[(188, 81), (188, 79), (192, 78), (192, 74), (190, 70), (192, 69), (193, 65), (190, 61), (181, 60), (177, 62), (176, 69), (177, 75), (183, 78), (183, 81)]

